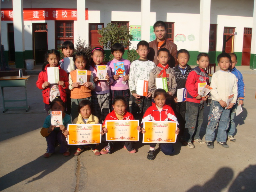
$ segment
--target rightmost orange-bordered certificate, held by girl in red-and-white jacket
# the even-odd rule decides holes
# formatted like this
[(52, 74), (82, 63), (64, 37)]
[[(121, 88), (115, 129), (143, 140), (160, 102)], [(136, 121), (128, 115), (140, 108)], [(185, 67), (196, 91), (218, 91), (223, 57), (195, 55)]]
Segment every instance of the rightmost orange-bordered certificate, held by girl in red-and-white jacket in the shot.
[(177, 122), (146, 121), (143, 123), (145, 133), (142, 143), (175, 143)]

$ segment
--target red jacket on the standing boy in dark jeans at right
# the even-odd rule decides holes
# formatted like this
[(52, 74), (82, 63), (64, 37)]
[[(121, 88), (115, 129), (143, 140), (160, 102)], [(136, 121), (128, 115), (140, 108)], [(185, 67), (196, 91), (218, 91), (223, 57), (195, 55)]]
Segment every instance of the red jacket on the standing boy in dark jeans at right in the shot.
[(209, 76), (206, 70), (199, 68), (198, 66), (195, 67), (190, 71), (188, 74), (187, 82), (186, 82), (186, 101), (193, 102), (193, 103), (204, 103), (203, 98), (197, 100), (196, 97), (198, 96), (198, 84), (205, 83), (209, 81)]

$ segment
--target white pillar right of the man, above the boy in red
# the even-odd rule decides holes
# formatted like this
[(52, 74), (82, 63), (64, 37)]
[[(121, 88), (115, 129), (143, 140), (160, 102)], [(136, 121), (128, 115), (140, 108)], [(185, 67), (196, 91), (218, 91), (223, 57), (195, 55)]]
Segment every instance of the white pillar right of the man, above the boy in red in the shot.
[(200, 0), (199, 52), (209, 52), (211, 0)]

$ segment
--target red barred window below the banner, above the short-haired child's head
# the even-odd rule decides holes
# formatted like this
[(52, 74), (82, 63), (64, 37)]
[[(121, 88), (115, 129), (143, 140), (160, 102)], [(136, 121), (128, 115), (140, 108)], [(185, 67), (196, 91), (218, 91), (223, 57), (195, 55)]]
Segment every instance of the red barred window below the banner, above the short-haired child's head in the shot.
[(55, 21), (56, 49), (60, 49), (64, 41), (74, 43), (74, 21)]

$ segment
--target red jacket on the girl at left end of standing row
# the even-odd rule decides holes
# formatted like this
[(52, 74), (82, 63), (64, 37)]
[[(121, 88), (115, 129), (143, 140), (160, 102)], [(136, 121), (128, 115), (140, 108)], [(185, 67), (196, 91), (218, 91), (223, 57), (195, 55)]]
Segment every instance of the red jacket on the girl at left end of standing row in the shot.
[[(50, 67), (50, 64), (45, 66), (45, 71), (41, 71), (38, 75), (38, 80), (36, 82), (36, 86), (39, 89), (42, 89), (43, 91), (43, 100), (45, 104), (50, 104), (49, 103), (49, 98), (50, 98), (50, 87), (46, 87), (45, 89), (43, 89), (42, 85), (44, 84), (45, 81), (48, 81), (47, 78), (47, 67)], [(60, 98), (61, 100), (63, 100), (63, 102), (65, 103), (67, 101), (67, 94), (66, 94), (66, 90), (68, 89), (68, 74), (65, 70), (59, 67), (59, 75), (60, 75), (60, 81), (64, 81), (65, 84), (65, 88), (63, 88), (61, 85), (59, 85), (59, 90), (60, 90)]]

